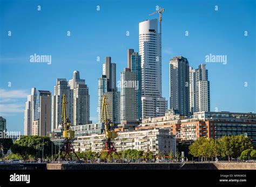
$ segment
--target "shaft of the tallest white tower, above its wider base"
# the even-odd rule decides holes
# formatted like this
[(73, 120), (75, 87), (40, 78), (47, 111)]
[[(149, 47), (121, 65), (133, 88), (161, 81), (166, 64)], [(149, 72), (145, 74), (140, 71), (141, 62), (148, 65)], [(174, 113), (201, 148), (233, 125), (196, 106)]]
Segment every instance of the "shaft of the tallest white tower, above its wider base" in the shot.
[(139, 23), (139, 54), (142, 59), (142, 96), (161, 97), (161, 50), (158, 20)]

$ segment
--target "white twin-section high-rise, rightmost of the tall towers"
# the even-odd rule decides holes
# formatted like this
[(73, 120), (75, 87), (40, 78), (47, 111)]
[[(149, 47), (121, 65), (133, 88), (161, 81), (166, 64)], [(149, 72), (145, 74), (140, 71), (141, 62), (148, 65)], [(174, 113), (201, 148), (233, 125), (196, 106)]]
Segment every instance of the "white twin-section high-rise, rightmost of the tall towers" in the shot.
[(193, 112), (210, 111), (210, 82), (205, 64), (198, 69), (190, 67), (190, 110)]

